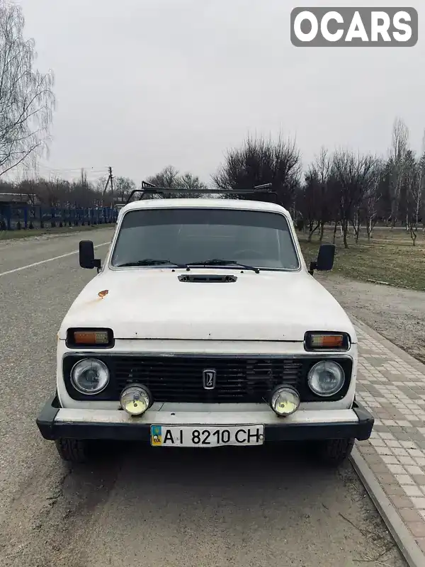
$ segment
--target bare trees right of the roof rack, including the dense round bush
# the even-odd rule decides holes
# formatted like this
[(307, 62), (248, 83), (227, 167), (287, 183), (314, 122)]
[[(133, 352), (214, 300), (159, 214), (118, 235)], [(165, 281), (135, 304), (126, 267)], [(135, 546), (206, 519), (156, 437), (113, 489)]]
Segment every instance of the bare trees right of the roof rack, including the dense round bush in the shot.
[(420, 225), (424, 227), (425, 135), (416, 155), (407, 126), (397, 118), (386, 159), (322, 147), (305, 172), (300, 152), (290, 140), (248, 139), (241, 148), (227, 152), (212, 181), (220, 189), (234, 190), (271, 183), (279, 203), (290, 210), (308, 240), (314, 234), (322, 240), (331, 225), (334, 241), (340, 230), (348, 247), (348, 232), (357, 242), (364, 230), (370, 240), (380, 223), (403, 226), (414, 245)]

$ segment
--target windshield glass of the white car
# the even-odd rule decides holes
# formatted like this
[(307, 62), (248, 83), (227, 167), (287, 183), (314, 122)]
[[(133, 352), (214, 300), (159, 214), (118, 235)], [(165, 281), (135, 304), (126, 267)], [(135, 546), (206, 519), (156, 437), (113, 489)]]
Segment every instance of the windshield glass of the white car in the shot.
[(145, 259), (174, 264), (231, 259), (259, 268), (300, 267), (283, 215), (239, 209), (159, 208), (126, 213), (111, 264)]

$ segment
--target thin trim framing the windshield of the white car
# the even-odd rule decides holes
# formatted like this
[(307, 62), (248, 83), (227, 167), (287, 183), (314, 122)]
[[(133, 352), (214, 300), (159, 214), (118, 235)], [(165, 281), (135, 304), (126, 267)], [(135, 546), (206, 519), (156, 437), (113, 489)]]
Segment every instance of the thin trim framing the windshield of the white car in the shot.
[[(149, 207), (149, 210), (164, 210), (164, 209), (178, 209), (178, 208), (185, 208), (185, 209), (199, 209), (199, 208), (208, 208), (208, 207), (200, 207), (200, 206), (184, 206), (184, 207), (174, 207), (174, 206), (169, 206), (169, 207)], [(217, 209), (223, 209), (223, 210), (249, 210), (249, 211), (254, 211), (254, 212), (264, 212), (264, 213), (272, 213), (275, 215), (281, 215), (283, 216), (283, 218), (285, 218), (286, 223), (288, 223), (288, 232), (290, 234), (290, 241), (293, 245), (293, 249), (295, 252), (295, 256), (297, 258), (297, 262), (298, 262), (298, 266), (297, 268), (279, 268), (279, 267), (274, 267), (271, 268), (270, 266), (267, 267), (261, 267), (259, 265), (256, 264), (251, 264), (252, 266), (259, 268), (261, 271), (285, 271), (285, 272), (298, 272), (298, 271), (302, 271), (302, 259), (300, 257), (300, 253), (298, 251), (298, 246), (297, 243), (295, 242), (295, 238), (294, 238), (294, 234), (293, 234), (293, 226), (290, 223), (290, 219), (284, 214), (281, 213), (279, 210), (261, 210), (261, 209), (256, 209), (256, 208), (234, 208), (234, 207), (226, 207), (226, 206), (222, 206), (222, 207), (214, 207)], [(118, 243), (118, 236), (120, 235), (120, 231), (121, 231), (121, 226), (123, 225), (123, 220), (125, 219), (125, 215), (128, 215), (128, 213), (134, 213), (135, 210), (147, 210), (147, 208), (140, 208), (140, 209), (130, 209), (128, 211), (126, 211), (120, 218), (120, 223), (117, 226), (117, 230), (115, 231), (115, 235), (113, 236), (113, 240), (111, 242), (111, 247), (110, 247), (110, 251), (108, 254), (108, 262), (106, 262), (104, 264), (104, 266), (108, 266), (108, 269), (111, 271), (123, 271), (123, 270), (140, 270), (140, 269), (174, 269), (174, 270), (178, 270), (180, 268), (177, 268), (176, 266), (173, 265), (169, 265), (167, 266), (166, 264), (164, 264), (164, 266), (113, 266), (112, 264), (112, 259), (113, 259), (113, 255), (115, 254), (115, 248), (117, 246)], [(192, 266), (192, 269), (241, 269), (239, 268), (239, 266)], [(186, 271), (186, 268), (183, 268)], [(254, 272), (253, 272), (254, 273)]]

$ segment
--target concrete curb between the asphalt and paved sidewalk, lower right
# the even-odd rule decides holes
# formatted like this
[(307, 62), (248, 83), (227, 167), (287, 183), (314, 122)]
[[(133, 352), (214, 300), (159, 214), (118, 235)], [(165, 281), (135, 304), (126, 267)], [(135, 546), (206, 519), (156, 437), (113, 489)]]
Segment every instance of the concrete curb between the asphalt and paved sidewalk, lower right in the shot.
[(390, 499), (380, 487), (375, 473), (369, 468), (356, 447), (353, 447), (350, 461), (365, 486), (365, 489), (368, 491), (370, 498), (377, 507), (378, 512), (382, 516), (382, 520), (387, 524), (387, 528), (390, 530), (392, 537), (395, 539), (409, 567), (424, 567), (425, 555), (422, 553), (418, 544), (416, 544), (412, 534), (404, 525), (402, 518), (399, 517)]

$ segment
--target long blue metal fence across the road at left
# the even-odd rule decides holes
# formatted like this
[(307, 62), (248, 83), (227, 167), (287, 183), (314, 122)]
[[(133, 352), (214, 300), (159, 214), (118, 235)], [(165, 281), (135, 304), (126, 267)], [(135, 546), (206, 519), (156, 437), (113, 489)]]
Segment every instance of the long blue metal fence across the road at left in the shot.
[(111, 207), (40, 207), (0, 203), (0, 230), (26, 230), (115, 223), (118, 210)]

